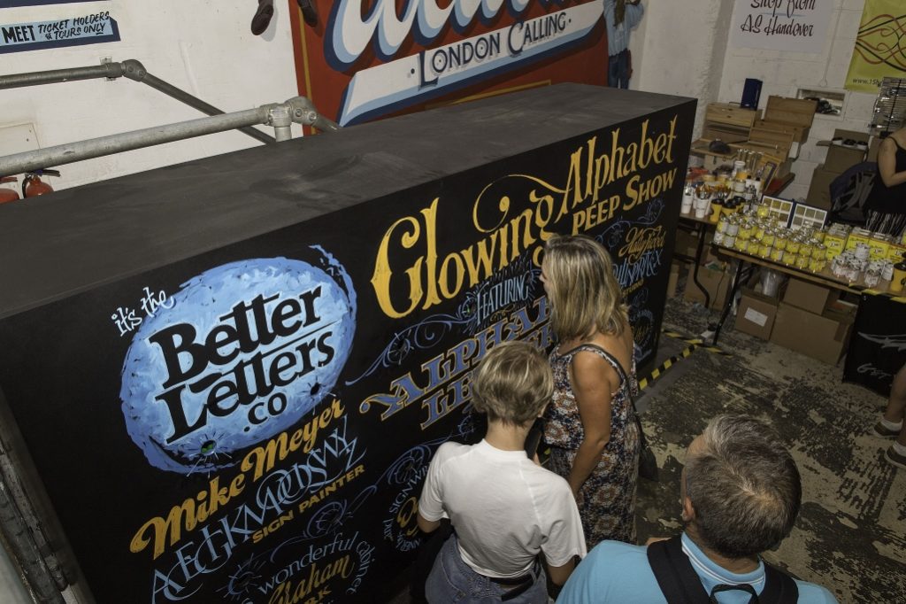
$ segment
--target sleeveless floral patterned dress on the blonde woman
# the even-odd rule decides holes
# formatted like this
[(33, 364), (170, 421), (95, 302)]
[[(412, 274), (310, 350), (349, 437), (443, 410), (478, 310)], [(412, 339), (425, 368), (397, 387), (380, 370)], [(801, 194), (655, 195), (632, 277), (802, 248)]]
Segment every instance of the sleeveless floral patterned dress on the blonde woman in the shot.
[[(554, 400), (547, 408), (545, 442), (551, 447), (548, 467), (564, 478), (569, 476), (584, 434), (569, 377), (573, 356), (583, 350), (601, 356), (620, 375), (617, 360), (597, 346), (576, 346), (563, 355), (560, 346), (554, 348), (550, 357), (554, 368)], [(589, 550), (606, 539), (635, 543), (640, 443), (630, 392), (636, 395), (638, 391), (633, 360), (629, 384), (621, 382), (612, 394), (610, 441), (604, 447), (601, 462), (579, 490), (579, 513)]]

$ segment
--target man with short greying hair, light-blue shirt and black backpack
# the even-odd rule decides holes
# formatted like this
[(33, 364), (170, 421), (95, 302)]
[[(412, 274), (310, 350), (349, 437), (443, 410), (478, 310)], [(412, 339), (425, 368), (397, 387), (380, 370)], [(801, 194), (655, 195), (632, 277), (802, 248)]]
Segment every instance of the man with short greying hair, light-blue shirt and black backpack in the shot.
[(684, 531), (649, 546), (603, 541), (566, 582), (558, 604), (583, 602), (836, 602), (760, 554), (793, 529), (802, 483), (766, 424), (720, 415), (689, 444), (679, 483)]

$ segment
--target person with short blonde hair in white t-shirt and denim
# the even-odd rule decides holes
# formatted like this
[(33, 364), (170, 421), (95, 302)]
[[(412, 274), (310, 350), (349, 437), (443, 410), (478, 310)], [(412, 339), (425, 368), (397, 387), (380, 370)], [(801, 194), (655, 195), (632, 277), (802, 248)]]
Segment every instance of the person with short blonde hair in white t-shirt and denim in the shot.
[(546, 603), (538, 553), (558, 585), (586, 553), (569, 484), (525, 453), (554, 376), (535, 346), (507, 342), (487, 353), (471, 390), (475, 409), (487, 414), (487, 434), (474, 445), (442, 444), (419, 500), (422, 531), (435, 531), (442, 518), (455, 531), (429, 574), (428, 601)]

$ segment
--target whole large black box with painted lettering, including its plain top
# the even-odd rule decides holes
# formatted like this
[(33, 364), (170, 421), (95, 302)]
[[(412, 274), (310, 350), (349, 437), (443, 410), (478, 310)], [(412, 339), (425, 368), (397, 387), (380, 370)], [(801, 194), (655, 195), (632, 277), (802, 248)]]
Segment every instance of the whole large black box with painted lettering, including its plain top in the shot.
[(471, 368), (554, 342), (546, 239), (653, 360), (694, 114), (561, 84), (0, 206), (0, 398), (98, 601), (380, 599)]

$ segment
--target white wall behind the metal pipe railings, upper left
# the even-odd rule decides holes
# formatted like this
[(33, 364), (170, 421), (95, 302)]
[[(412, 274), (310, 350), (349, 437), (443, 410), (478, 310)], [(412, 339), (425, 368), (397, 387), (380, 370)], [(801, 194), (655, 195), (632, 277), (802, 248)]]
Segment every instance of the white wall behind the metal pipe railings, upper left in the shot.
[[(149, 73), (224, 112), (283, 102), (296, 95), (289, 3), (275, 2), (275, 15), (261, 36), (249, 31), (254, 0), (112, 0), (0, 9), (0, 24), (51, 21), (110, 11), (121, 41), (62, 49), (0, 54), (0, 73), (26, 73), (93, 66), (102, 57), (137, 59)], [(115, 81), (46, 84), (0, 92), (0, 128), (33, 123), (41, 147), (184, 122), (204, 115), (148, 85)], [(263, 128), (274, 134), (273, 129)], [(301, 129), (294, 126), (294, 136)], [(0, 137), (0, 155), (27, 149)], [(224, 132), (63, 165), (56, 189), (235, 151), (260, 142)], [(50, 166), (48, 166), (50, 167)]]

